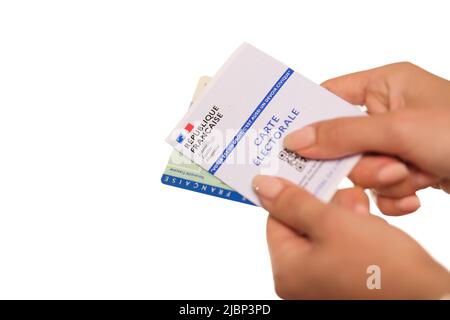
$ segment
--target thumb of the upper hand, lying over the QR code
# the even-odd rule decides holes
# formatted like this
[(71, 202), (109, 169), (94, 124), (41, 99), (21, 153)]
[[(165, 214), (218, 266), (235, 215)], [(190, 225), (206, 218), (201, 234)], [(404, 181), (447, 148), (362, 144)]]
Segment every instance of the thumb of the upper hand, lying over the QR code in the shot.
[(403, 124), (393, 113), (326, 120), (294, 131), (284, 146), (306, 158), (330, 159), (362, 152), (401, 156)]

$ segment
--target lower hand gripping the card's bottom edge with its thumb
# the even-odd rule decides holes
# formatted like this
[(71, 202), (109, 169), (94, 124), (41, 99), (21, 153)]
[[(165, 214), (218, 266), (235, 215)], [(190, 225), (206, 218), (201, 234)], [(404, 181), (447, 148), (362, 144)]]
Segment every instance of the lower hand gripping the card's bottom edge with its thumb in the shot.
[[(329, 204), (281, 178), (253, 185), (270, 215), (267, 241), (275, 290), (285, 299), (439, 299), (450, 275), (401, 230), (368, 214), (361, 189), (340, 190)], [(369, 290), (367, 268), (381, 271)]]

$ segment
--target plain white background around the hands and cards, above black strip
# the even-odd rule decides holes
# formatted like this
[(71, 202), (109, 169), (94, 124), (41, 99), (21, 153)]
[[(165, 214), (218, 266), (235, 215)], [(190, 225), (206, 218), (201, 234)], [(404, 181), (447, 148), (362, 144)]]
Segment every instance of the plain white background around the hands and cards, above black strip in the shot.
[[(198, 77), (247, 41), (316, 82), (450, 78), (445, 5), (1, 1), (0, 298), (275, 298), (266, 213), (160, 183)], [(389, 221), (448, 268), (450, 197), (420, 195)]]

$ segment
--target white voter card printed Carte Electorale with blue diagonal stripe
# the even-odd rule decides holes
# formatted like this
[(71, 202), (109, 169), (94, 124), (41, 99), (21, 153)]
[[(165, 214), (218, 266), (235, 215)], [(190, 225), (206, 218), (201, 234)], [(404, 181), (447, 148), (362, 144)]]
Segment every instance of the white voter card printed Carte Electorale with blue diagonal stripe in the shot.
[(243, 44), (208, 84), (167, 142), (255, 204), (257, 174), (283, 177), (327, 202), (359, 160), (307, 160), (283, 149), (284, 137), (310, 123), (362, 116), (276, 59)]

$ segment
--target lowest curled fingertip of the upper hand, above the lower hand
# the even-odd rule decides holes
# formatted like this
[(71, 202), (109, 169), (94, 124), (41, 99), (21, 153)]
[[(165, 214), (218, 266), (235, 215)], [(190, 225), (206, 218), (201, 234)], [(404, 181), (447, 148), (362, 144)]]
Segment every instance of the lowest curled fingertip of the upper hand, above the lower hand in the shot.
[(416, 195), (393, 199), (378, 195), (372, 191), (372, 197), (378, 209), (388, 216), (401, 216), (412, 213), (420, 208), (420, 200)]

